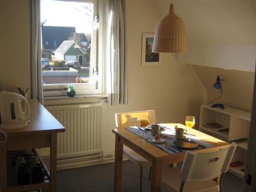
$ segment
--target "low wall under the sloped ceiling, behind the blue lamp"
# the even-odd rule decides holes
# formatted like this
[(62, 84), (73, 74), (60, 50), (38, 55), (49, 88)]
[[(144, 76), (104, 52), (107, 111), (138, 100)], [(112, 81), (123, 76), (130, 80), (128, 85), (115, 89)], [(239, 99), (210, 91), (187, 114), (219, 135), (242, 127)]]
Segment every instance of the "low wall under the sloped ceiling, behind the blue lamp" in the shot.
[(193, 69), (206, 89), (208, 97), (207, 103), (217, 98), (220, 94), (220, 90), (214, 89), (213, 86), (217, 76), (220, 75), (221, 79), (225, 79), (222, 83), (223, 94), (221, 102), (233, 108), (251, 111), (254, 72), (224, 70), (221, 68), (196, 65), (193, 65)]

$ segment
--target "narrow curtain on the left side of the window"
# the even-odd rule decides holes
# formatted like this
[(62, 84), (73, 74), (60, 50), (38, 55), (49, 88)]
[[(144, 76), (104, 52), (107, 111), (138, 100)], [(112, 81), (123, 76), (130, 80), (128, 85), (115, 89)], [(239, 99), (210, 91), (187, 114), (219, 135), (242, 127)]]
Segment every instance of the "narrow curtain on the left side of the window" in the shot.
[(30, 0), (30, 92), (43, 103), (41, 75), (40, 0)]

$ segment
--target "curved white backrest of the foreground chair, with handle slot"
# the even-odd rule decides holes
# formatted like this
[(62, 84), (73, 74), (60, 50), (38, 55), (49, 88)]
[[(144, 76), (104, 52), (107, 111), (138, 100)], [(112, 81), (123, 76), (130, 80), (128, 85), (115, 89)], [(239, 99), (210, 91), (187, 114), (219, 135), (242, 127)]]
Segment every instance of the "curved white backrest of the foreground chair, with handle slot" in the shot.
[(187, 152), (181, 168), (181, 180), (184, 182), (206, 181), (226, 173), (236, 147), (237, 144), (233, 142), (220, 150)]

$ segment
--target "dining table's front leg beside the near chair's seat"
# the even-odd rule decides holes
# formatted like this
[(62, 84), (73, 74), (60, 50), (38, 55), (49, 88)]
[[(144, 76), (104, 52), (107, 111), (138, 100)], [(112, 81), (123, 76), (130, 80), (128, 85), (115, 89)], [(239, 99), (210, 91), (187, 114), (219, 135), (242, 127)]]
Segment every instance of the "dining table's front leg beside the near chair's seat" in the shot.
[(162, 178), (162, 162), (153, 160), (152, 162), (152, 178), (151, 178), (151, 192), (161, 191)]

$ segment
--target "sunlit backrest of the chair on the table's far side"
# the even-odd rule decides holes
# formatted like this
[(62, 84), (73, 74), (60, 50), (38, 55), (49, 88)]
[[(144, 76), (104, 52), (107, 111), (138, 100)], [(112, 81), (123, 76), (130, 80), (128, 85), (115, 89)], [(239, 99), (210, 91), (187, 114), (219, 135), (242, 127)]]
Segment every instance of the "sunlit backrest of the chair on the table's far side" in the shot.
[(140, 124), (141, 115), (148, 115), (150, 123), (156, 123), (156, 116), (154, 110), (136, 111), (126, 113), (116, 113), (116, 127), (135, 126)]

